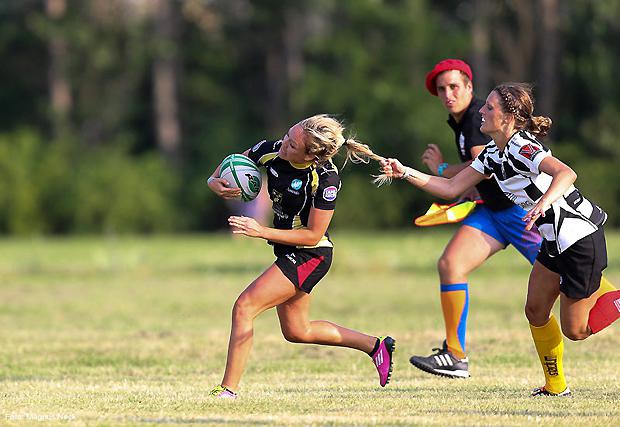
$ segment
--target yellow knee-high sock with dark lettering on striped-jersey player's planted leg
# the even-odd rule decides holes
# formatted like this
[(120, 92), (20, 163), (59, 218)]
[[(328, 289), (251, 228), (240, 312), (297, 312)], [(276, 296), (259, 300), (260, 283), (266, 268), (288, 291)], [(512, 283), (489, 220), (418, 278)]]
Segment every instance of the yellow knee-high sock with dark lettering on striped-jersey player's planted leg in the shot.
[(558, 322), (552, 314), (544, 326), (530, 325), (530, 330), (545, 374), (545, 389), (551, 393), (563, 392), (566, 390), (562, 364), (564, 341)]

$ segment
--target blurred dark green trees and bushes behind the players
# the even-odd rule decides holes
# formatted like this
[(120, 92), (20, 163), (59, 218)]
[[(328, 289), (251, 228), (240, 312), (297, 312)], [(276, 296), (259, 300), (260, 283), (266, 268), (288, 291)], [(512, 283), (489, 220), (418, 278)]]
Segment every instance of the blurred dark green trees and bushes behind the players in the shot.
[[(4, 0), (0, 232), (225, 225), (227, 154), (331, 113), (377, 152), (456, 161), (426, 72), (457, 57), (479, 96), (535, 85), (547, 143), (620, 224), (620, 3), (574, 0)], [(429, 196), (347, 166), (340, 227), (403, 227)]]

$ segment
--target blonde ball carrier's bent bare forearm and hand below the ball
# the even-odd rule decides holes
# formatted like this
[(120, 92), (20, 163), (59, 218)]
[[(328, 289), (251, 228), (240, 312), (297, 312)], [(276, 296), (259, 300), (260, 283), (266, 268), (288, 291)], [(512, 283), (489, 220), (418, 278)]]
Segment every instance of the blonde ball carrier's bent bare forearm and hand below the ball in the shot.
[(334, 215), (333, 210), (310, 208), (308, 226), (295, 230), (280, 230), (260, 225), (254, 218), (231, 216), (228, 223), (233, 233), (259, 237), (275, 243), (292, 246), (314, 246), (325, 235)]

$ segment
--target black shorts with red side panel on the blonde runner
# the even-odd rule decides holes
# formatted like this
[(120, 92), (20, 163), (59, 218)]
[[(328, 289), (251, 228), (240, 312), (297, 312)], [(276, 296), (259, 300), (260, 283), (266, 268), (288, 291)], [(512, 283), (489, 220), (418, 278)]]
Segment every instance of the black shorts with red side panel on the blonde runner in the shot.
[(275, 264), (295, 287), (309, 294), (332, 265), (333, 248), (296, 249), (276, 253)]

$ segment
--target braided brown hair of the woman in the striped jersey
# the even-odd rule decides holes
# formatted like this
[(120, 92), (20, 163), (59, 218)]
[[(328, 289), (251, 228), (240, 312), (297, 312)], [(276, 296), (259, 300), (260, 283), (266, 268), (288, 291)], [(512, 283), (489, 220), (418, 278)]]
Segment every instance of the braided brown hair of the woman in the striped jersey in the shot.
[(517, 130), (527, 130), (538, 138), (549, 132), (553, 123), (549, 117), (534, 116), (532, 85), (527, 83), (502, 83), (493, 89), (500, 99), (504, 113), (512, 114)]

